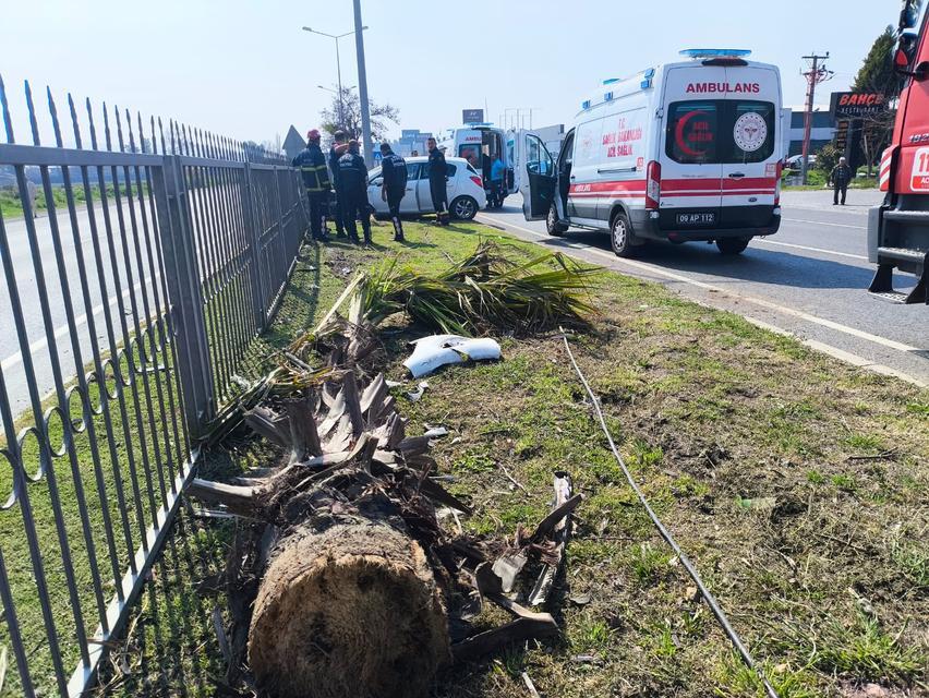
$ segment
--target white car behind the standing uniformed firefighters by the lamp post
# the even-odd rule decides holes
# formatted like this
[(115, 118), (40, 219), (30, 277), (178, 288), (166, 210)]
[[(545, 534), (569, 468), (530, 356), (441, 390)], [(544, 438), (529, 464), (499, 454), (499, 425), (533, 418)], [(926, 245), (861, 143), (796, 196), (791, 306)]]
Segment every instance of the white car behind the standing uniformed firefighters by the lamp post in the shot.
[[(429, 191), (429, 158), (423, 156), (403, 158), (407, 161), (407, 193), (400, 202), (400, 214), (417, 216), (432, 214), (432, 196)], [(486, 203), (484, 184), (478, 171), (460, 157), (447, 157), (448, 167), (448, 209), (453, 218), (471, 220)], [(388, 215), (387, 202), (381, 197), (384, 179), (381, 168), (375, 167), (367, 173), (367, 201), (374, 207), (374, 215)]]

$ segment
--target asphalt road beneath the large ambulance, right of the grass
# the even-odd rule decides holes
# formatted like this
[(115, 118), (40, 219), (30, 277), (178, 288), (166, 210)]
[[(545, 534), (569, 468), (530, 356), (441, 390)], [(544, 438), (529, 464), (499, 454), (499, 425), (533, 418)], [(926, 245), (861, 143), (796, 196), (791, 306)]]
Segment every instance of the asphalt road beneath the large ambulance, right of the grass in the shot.
[[(785, 192), (780, 231), (756, 238), (741, 255), (720, 254), (707, 243), (654, 243), (635, 260), (620, 260), (606, 233), (545, 232), (544, 221), (527, 221), (522, 201), (481, 212), (478, 220), (587, 262), (664, 284), (687, 298), (736, 312), (787, 332), (837, 358), (929, 385), (929, 308), (898, 305), (869, 296), (873, 276), (867, 258), (868, 209), (877, 191), (850, 191), (846, 206), (832, 205), (832, 192)], [(915, 285), (901, 274), (898, 289)]]

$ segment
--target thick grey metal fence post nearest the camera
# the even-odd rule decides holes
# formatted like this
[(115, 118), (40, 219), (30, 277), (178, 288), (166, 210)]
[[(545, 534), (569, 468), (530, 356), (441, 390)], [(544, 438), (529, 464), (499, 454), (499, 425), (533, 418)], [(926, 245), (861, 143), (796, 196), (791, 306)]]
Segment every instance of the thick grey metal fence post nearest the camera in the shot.
[(162, 167), (153, 168), (153, 189), (158, 219), (162, 221), (159, 233), (178, 339), (184, 419), (191, 434), (196, 436), (216, 414), (216, 396), (193, 227), (188, 218), (189, 194), (182, 171), (180, 156), (165, 156)]

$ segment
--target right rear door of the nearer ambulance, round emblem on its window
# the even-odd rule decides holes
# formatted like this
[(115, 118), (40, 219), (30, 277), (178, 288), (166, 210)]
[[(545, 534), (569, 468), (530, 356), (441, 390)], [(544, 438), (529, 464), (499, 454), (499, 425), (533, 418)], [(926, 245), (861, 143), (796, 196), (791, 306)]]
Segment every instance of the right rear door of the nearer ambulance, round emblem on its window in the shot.
[(768, 65), (727, 65), (719, 146), (723, 155), (721, 227), (770, 224), (781, 160), (781, 77)]

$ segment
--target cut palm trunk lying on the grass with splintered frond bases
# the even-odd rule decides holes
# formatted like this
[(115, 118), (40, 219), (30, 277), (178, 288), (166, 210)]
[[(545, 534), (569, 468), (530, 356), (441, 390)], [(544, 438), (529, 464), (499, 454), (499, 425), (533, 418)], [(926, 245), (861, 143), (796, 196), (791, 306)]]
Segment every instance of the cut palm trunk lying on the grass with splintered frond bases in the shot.
[(281, 698), (425, 695), (451, 659), (429, 497), (468, 509), (427, 478), (429, 440), (406, 437), (383, 376), (361, 388), (351, 372), (246, 422), (290, 448), (280, 466), (189, 493), (265, 527), (242, 619), (256, 685)]

